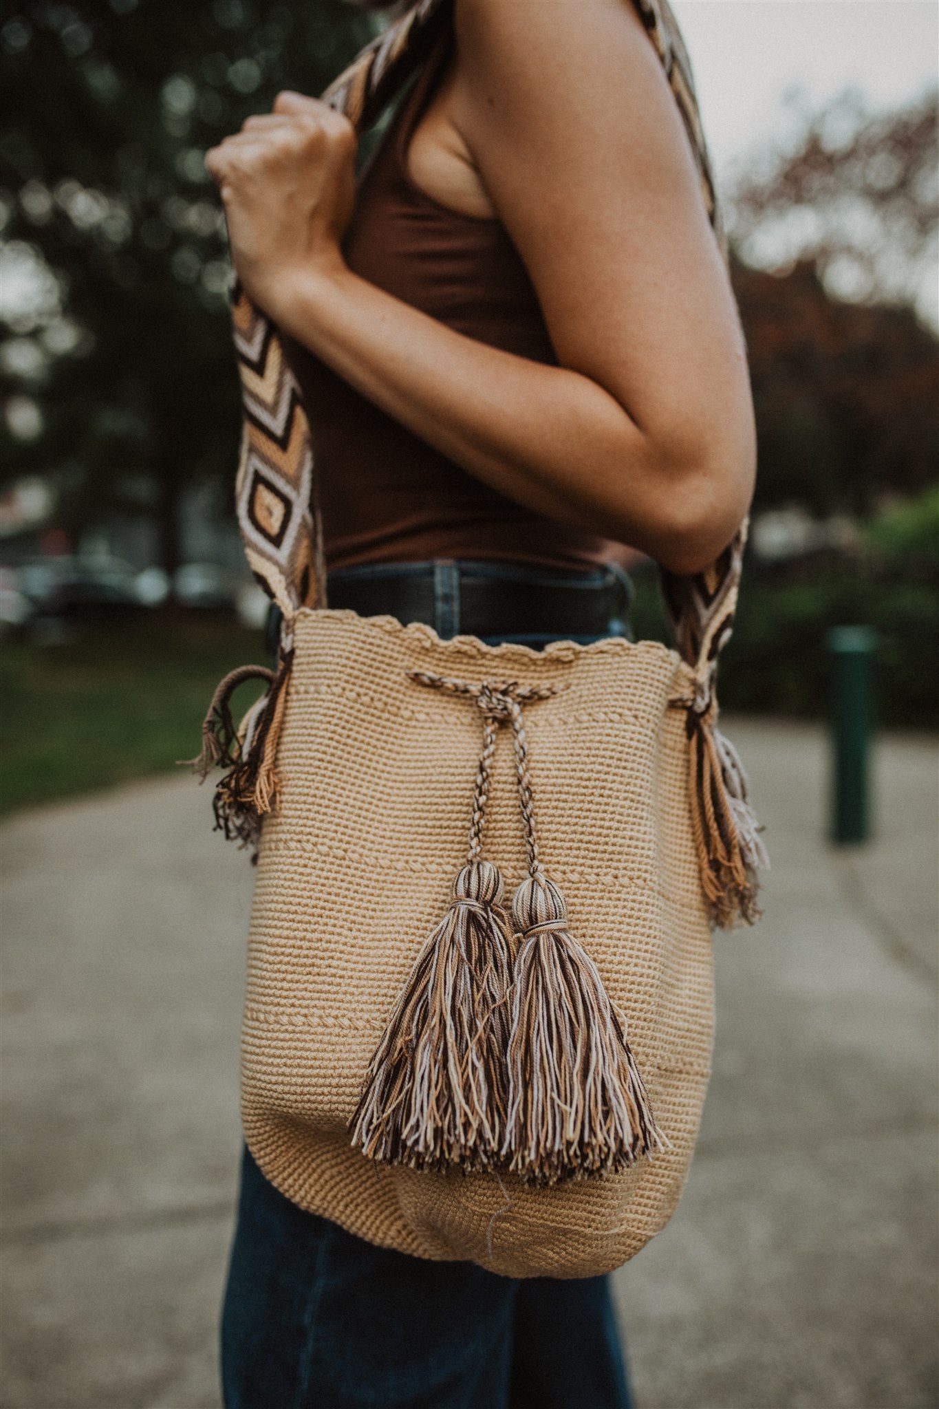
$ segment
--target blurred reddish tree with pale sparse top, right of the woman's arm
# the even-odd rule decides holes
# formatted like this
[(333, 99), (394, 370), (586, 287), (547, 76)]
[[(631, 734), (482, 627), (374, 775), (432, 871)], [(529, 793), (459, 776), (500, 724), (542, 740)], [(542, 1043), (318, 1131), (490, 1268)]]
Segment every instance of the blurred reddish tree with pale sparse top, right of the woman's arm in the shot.
[(936, 479), (935, 152), (935, 94), (876, 114), (846, 94), (731, 190), (757, 509), (866, 514)]

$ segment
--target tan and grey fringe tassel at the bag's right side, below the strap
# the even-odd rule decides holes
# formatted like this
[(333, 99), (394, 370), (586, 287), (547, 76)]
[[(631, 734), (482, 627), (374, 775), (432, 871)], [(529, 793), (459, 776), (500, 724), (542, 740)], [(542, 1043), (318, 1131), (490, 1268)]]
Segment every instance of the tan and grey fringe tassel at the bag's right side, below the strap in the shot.
[(756, 872), (769, 868), (769, 858), (748, 802), (746, 774), (717, 728), (714, 697), (702, 712), (681, 703), (687, 707), (691, 827), (711, 920), (721, 929), (755, 924), (762, 913)]

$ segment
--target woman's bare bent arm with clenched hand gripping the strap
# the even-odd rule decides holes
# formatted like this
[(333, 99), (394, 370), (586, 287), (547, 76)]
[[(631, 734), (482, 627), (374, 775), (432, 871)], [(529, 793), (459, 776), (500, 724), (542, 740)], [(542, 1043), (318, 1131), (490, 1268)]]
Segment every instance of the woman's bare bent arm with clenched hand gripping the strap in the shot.
[(452, 120), (560, 366), (476, 342), (353, 275), (351, 128), (283, 94), (208, 156), (248, 292), (467, 471), (553, 519), (705, 566), (749, 503), (732, 296), (659, 61), (625, 0), (458, 0)]

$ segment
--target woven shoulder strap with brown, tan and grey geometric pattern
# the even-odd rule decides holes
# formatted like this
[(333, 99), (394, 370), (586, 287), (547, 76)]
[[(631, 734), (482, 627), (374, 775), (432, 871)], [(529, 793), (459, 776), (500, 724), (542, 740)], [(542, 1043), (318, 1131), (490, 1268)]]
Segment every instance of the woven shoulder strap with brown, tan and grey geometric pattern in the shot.
[[(677, 23), (666, 0), (632, 3), (679, 104), (708, 217), (722, 245), (711, 165)], [(339, 75), (324, 101), (356, 130), (369, 127), (452, 24), (452, 14), (453, 0), (417, 0)], [(239, 287), (232, 317), (245, 416), (238, 524), (252, 572), (283, 613), (282, 648), (289, 651), (297, 610), (327, 604), (310, 424), (277, 330)], [(708, 702), (717, 655), (733, 623), (745, 531), (742, 526), (707, 572), (693, 578), (663, 572), (676, 645), (695, 672), (701, 707)]]

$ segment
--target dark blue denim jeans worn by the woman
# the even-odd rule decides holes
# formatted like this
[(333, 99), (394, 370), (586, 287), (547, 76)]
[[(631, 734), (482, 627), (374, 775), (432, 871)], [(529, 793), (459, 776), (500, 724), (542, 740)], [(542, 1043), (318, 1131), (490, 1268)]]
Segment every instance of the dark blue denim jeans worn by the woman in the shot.
[[(429, 624), (441, 637), (460, 630), (452, 568), (408, 565), (434, 573)], [(511, 564), (460, 569), (532, 585), (545, 578)], [(382, 566), (348, 571), (389, 575)], [(577, 575), (579, 586), (605, 581), (605, 569)], [(628, 600), (628, 579), (624, 586)], [(397, 614), (393, 600), (387, 610)], [(626, 620), (610, 623), (608, 634), (628, 631)], [(489, 640), (539, 647), (553, 637)], [(631, 1405), (608, 1278), (515, 1279), (473, 1262), (429, 1262), (373, 1247), (293, 1205), (246, 1150), (221, 1350), (225, 1409)]]

